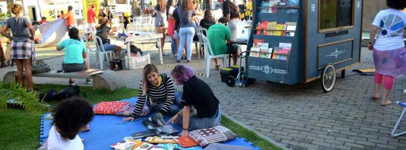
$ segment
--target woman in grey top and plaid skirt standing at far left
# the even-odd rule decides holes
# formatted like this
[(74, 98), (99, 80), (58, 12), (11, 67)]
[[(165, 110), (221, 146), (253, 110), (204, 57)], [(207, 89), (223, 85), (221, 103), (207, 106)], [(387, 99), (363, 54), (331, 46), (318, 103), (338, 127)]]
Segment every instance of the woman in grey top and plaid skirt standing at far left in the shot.
[[(27, 86), (29, 90), (33, 90), (31, 76), (31, 55), (35, 55), (34, 45), (34, 28), (28, 17), (23, 16), (23, 6), (17, 3), (7, 5), (15, 16), (7, 20), (6, 26), (1, 29), (1, 34), (9, 38), (11, 42), (11, 59), (17, 64), (17, 80), (23, 85), (23, 67), (26, 70)], [(11, 28), (13, 36), (7, 33)], [(31, 33), (31, 36), (30, 36)]]

